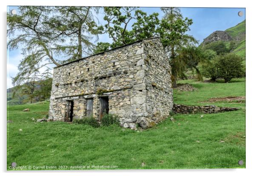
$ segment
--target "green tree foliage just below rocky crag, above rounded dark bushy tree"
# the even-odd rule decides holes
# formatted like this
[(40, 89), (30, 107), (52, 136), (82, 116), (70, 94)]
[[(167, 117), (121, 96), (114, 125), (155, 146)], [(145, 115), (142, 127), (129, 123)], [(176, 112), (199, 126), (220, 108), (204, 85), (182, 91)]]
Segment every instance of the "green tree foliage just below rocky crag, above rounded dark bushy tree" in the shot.
[(203, 47), (204, 50), (213, 50), (217, 55), (228, 53), (230, 50), (224, 41), (213, 41)]

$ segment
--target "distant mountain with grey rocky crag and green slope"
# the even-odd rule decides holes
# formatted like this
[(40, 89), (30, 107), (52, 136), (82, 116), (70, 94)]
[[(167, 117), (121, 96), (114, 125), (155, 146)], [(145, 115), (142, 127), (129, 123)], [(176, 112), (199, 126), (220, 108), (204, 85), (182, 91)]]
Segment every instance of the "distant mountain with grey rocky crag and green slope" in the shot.
[(230, 52), (245, 59), (245, 20), (225, 31), (217, 30), (211, 33), (200, 45), (204, 46), (214, 41), (224, 41), (227, 47), (230, 47), (232, 41), (235, 44)]

